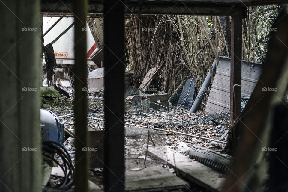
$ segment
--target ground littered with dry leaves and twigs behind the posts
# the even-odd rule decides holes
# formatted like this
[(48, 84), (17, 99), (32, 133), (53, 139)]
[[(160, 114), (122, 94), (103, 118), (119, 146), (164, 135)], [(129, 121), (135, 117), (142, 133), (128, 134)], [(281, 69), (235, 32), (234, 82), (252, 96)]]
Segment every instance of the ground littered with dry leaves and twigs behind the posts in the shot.
[[(64, 102), (64, 105), (54, 105), (49, 110), (53, 111), (58, 116), (73, 113), (73, 103), (74, 96), (73, 90), (71, 88), (66, 89), (70, 93), (70, 98)], [(47, 109), (47, 108), (46, 108)], [(94, 130), (104, 130), (104, 98), (89, 96), (88, 97), (88, 129)], [(133, 114), (125, 113), (125, 127), (137, 126), (146, 129), (161, 128), (165, 130), (170, 130), (166, 135), (166, 146), (186, 155), (187, 147), (191, 146), (204, 146), (209, 149), (220, 152), (225, 144), (219, 143), (211, 140), (204, 140), (199, 137), (206, 137), (214, 140), (226, 141), (226, 133), (228, 131), (229, 120), (225, 120), (223, 117), (216, 118), (207, 117), (206, 114), (189, 114), (188, 111), (180, 111), (180, 109), (151, 109), (150, 111), (145, 111), (144, 114)], [(205, 121), (207, 120), (207, 121)], [(65, 123), (65, 128), (70, 131), (75, 131), (75, 119), (74, 116), (62, 117), (60, 118), (61, 123)], [(197, 123), (198, 122), (198, 123)], [(200, 122), (200, 123), (199, 123)], [(133, 125), (130, 125), (133, 124)], [(191, 137), (182, 134), (176, 134), (174, 131), (178, 131), (185, 134), (192, 134), (197, 137)], [(67, 138), (65, 138), (67, 139)], [(69, 143), (67, 141), (67, 143)], [(75, 150), (73, 144), (71, 146), (66, 146), (67, 150)], [(72, 160), (74, 160), (75, 155), (73, 152), (70, 153)], [(169, 169), (169, 168), (167, 168)], [(91, 168), (90, 180), (103, 188), (103, 169)], [(175, 192), (205, 192), (205, 189), (199, 186), (190, 184), (191, 188), (189, 190), (177, 190)]]

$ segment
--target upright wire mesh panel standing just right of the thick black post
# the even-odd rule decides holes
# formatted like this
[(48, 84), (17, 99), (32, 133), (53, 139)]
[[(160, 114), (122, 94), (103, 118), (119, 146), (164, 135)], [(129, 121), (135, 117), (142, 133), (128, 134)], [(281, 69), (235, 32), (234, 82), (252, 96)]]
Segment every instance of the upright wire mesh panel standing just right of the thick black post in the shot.
[(125, 135), (126, 170), (140, 170), (151, 165), (166, 164), (165, 132), (128, 127), (125, 129)]

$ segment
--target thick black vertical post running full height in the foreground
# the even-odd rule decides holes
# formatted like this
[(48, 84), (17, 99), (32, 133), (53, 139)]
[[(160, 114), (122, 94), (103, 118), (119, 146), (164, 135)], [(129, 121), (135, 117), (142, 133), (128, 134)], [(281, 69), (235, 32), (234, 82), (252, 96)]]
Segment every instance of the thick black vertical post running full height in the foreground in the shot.
[(106, 192), (125, 191), (124, 27), (123, 2), (104, 1), (104, 188)]

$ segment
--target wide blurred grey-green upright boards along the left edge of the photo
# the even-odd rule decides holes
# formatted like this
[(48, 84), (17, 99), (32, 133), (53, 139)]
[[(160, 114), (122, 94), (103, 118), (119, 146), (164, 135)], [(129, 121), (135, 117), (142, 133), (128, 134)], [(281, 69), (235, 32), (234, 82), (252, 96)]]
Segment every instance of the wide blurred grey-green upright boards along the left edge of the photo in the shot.
[(4, 1), (0, 16), (0, 191), (41, 191), (39, 1)]

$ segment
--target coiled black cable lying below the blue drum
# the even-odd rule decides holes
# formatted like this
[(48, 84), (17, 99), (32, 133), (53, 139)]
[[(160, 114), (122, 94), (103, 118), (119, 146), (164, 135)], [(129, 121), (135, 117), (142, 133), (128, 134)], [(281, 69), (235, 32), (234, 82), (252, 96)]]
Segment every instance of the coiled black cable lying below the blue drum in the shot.
[[(63, 161), (63, 165), (61, 165), (57, 159), (55, 159), (53, 156), (50, 156), (46, 154), (45, 152), (48, 152), (49, 154), (57, 154)], [(55, 162), (61, 170), (64, 172), (64, 177), (59, 177), (56, 175), (51, 175), (54, 177), (59, 178), (60, 183), (55, 184), (52, 186), (52, 188), (57, 189), (67, 189), (70, 188), (73, 184), (73, 177), (74, 177), (74, 167), (70, 158), (69, 153), (67, 150), (60, 145), (57, 142), (54, 141), (42, 141), (42, 155), (53, 162)]]

